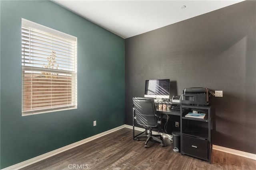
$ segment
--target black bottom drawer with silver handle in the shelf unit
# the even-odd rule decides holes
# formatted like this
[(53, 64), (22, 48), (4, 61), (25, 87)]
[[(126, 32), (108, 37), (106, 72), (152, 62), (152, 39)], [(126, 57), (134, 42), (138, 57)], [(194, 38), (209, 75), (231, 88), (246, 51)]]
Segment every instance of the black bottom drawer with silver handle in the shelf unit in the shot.
[(208, 160), (208, 141), (202, 138), (183, 135), (182, 152)]

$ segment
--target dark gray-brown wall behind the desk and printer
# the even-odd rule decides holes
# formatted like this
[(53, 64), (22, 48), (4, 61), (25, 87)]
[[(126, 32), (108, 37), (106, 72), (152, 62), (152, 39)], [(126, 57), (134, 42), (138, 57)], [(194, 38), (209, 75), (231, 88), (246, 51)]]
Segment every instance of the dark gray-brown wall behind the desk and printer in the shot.
[(211, 98), (213, 144), (256, 154), (256, 1), (126, 39), (126, 124), (145, 80), (163, 78), (172, 81), (172, 95), (189, 87), (223, 90), (223, 98)]

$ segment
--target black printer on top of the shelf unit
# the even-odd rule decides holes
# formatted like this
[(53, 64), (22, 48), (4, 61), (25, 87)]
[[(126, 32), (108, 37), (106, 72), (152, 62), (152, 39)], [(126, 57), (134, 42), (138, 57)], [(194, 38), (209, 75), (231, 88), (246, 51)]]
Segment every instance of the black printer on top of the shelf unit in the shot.
[(182, 90), (181, 104), (207, 106), (209, 104), (208, 88), (193, 87)]

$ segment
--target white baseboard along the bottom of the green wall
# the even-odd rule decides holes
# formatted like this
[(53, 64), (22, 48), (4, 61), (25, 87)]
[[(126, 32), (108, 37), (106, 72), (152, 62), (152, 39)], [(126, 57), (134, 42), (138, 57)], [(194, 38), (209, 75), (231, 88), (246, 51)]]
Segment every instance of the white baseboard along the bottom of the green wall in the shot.
[(102, 137), (102, 136), (104, 136), (104, 135), (107, 135), (107, 134), (109, 134), (109, 133), (112, 133), (112, 132), (114, 132), (114, 131), (117, 131), (117, 130), (119, 130), (119, 129), (122, 129), (122, 128), (124, 128), (124, 127), (125, 127), (125, 125), (121, 125), (121, 126), (116, 127), (116, 128), (114, 128), (114, 129), (110, 129), (110, 130), (108, 130), (108, 131), (99, 133), (99, 134), (94, 135), (94, 136), (92, 136), (92, 137), (88, 137), (88, 138), (86, 138), (86, 139), (83, 139), (83, 140), (81, 140), (81, 141), (72, 143), (72, 144), (67, 145), (67, 146), (65, 146), (65, 147), (62, 147), (62, 148), (59, 148), (59, 149), (56, 149), (56, 150), (52, 150), (52, 151), (47, 152), (47, 153), (45, 153), (45, 154), (42, 154), (42, 155), (36, 156), (36, 157), (34, 157), (34, 158), (31, 158), (31, 159), (29, 159), (29, 160), (25, 160), (25, 161), (23, 161), (23, 162), (20, 162), (20, 163), (18, 163), (18, 164), (14, 164), (14, 165), (12, 165), (12, 166), (8, 166), (8, 167), (6, 167), (6, 168), (4, 168), (4, 169), (2, 169), (2, 170), (18, 170), (18, 169), (20, 169), (20, 168), (24, 168), (24, 167), (26, 167), (26, 166), (29, 166), (29, 165), (31, 165), (31, 164), (34, 164), (34, 163), (36, 163), (36, 162), (39, 162), (39, 161), (41, 161), (41, 160), (44, 160), (44, 159), (46, 159), (46, 158), (49, 158), (49, 157), (51, 157), (51, 156), (54, 156), (54, 155), (56, 155), (56, 154), (59, 154), (59, 153), (61, 153), (61, 152), (66, 151), (66, 150), (72, 149), (72, 148), (77, 147), (77, 146), (79, 146), (79, 145), (82, 145), (82, 144), (84, 144), (84, 143), (90, 142), (90, 141), (92, 141), (92, 140), (94, 140), (94, 139), (97, 139), (97, 138), (99, 138), (99, 137)]

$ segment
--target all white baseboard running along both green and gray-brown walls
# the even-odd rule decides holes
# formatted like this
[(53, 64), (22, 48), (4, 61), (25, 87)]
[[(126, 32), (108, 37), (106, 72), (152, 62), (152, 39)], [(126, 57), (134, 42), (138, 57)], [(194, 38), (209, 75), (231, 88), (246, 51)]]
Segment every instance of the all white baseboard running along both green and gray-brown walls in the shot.
[[(24, 167), (26, 167), (26, 166), (29, 166), (29, 165), (31, 165), (31, 164), (34, 164), (34, 163), (36, 163), (36, 162), (39, 162), (39, 161), (41, 161), (41, 160), (44, 160), (44, 159), (46, 159), (46, 158), (49, 158), (49, 157), (51, 157), (51, 156), (54, 156), (54, 155), (56, 155), (56, 154), (59, 154), (59, 153), (61, 153), (61, 152), (66, 151), (66, 150), (72, 149), (72, 148), (77, 147), (77, 146), (79, 146), (79, 145), (82, 145), (82, 144), (84, 144), (84, 143), (90, 142), (90, 141), (92, 141), (92, 140), (94, 140), (94, 139), (97, 139), (97, 138), (99, 138), (99, 137), (102, 137), (102, 136), (104, 136), (104, 135), (107, 135), (107, 134), (109, 134), (109, 133), (112, 133), (112, 132), (114, 132), (114, 131), (117, 131), (117, 130), (119, 130), (119, 129), (122, 129), (122, 128), (124, 128), (124, 127), (127, 127), (127, 128), (129, 128), (129, 129), (132, 129), (132, 126), (131, 126), (131, 125), (121, 125), (121, 126), (116, 127), (116, 128), (114, 128), (114, 129), (110, 129), (110, 130), (108, 130), (108, 131), (99, 133), (99, 134), (94, 135), (94, 136), (92, 136), (92, 137), (88, 137), (88, 138), (86, 138), (86, 139), (83, 139), (83, 140), (81, 140), (81, 141), (72, 143), (72, 144), (67, 145), (67, 146), (65, 146), (65, 147), (62, 147), (62, 148), (59, 148), (59, 149), (56, 149), (56, 150), (52, 150), (52, 151), (47, 152), (47, 153), (45, 153), (45, 154), (42, 154), (42, 155), (36, 156), (36, 157), (34, 157), (34, 158), (31, 158), (31, 159), (29, 159), (29, 160), (25, 160), (25, 161), (23, 161), (23, 162), (20, 162), (20, 163), (18, 163), (18, 164), (14, 164), (14, 165), (12, 165), (12, 166), (8, 166), (8, 167), (6, 167), (6, 168), (4, 168), (4, 169), (2, 169), (2, 170), (18, 170), (18, 169), (20, 169), (20, 168), (24, 168)], [(134, 129), (137, 130), (137, 131), (144, 131), (144, 130), (145, 130), (145, 129), (140, 128), (140, 127), (134, 127)], [(158, 132), (153, 131), (153, 133), (158, 133)], [(164, 133), (163, 133), (163, 135), (167, 135), (166, 137), (170, 137), (170, 135), (168, 135), (168, 134), (164, 134)], [(235, 154), (235, 155), (238, 155), (238, 156), (243, 156), (243, 157), (246, 157), (246, 158), (250, 158), (250, 159), (256, 160), (256, 154), (252, 154), (252, 153), (248, 153), (248, 152), (243, 152), (243, 151), (240, 151), (240, 150), (234, 150), (234, 149), (230, 149), (230, 148), (225, 148), (225, 147), (220, 147), (220, 146), (217, 146), (217, 145), (213, 145), (213, 146), (212, 146), (212, 149), (220, 150), (220, 151), (222, 151), (222, 152), (227, 152), (227, 153), (230, 153), (230, 154)]]

